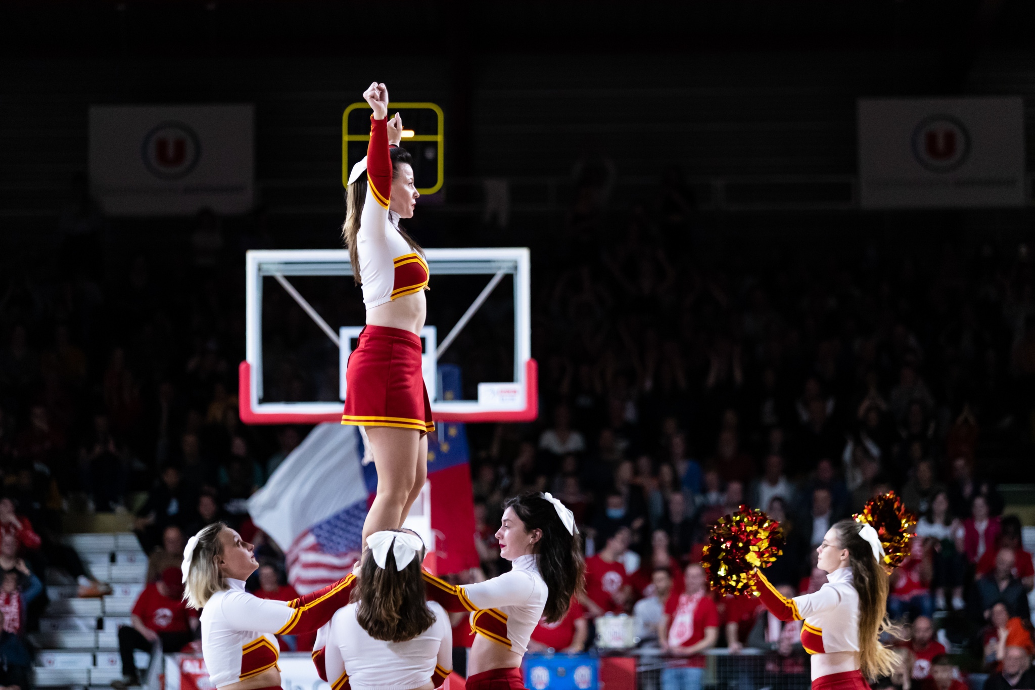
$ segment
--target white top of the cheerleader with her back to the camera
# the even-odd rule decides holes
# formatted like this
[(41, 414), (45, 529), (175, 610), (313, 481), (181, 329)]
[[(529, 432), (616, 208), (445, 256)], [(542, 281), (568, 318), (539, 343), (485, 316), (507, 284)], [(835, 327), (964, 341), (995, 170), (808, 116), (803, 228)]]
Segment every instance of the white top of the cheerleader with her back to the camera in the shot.
[(327, 628), (327, 680), (332, 690), (346, 681), (352, 690), (413, 690), (432, 679), (436, 666), (452, 668), (449, 614), (437, 602), (427, 602), (435, 623), (405, 642), (371, 637), (356, 620), (358, 605), (339, 608)]

